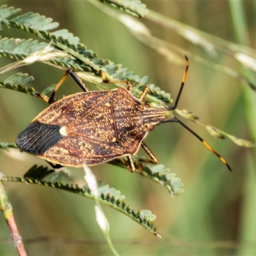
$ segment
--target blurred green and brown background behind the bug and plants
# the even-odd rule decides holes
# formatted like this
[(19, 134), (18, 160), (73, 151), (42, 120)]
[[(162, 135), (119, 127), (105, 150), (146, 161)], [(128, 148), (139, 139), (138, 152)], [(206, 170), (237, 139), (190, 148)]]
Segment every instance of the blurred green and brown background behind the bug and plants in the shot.
[[(2, 1), (3, 2), (3, 1)], [(101, 12), (88, 1), (4, 1), (22, 8), (22, 13), (38, 12), (52, 17), (78, 36), (100, 58), (122, 63), (139, 76), (149, 76), (171, 95), (177, 94), (184, 67), (176, 67), (154, 50), (143, 45), (116, 19)], [(2, 3), (2, 4), (4, 4)], [(148, 8), (184, 24), (201, 29), (230, 42), (237, 42), (237, 28), (232, 21), (228, 1), (144, 1)], [(248, 47), (256, 46), (256, 3), (244, 1)], [(233, 58), (217, 52), (215, 58), (159, 24), (142, 20), (152, 35), (220, 65), (237, 71), (241, 66)], [(1, 36), (28, 38), (28, 34), (4, 27)], [(0, 59), (1, 67), (12, 62)], [(37, 91), (57, 83), (63, 72), (42, 63), (19, 69), (35, 77), (31, 83)], [(13, 74), (18, 72), (14, 70)], [(10, 76), (4, 74), (2, 77)], [(3, 80), (1, 79), (1, 81)], [(253, 74), (250, 79), (255, 81)], [(254, 79), (254, 80), (253, 80)], [(70, 82), (70, 83), (69, 83)], [(68, 84), (69, 83), (69, 84)], [(61, 93), (77, 92), (71, 79)], [(73, 86), (74, 85), (74, 86)], [(248, 97), (249, 95), (249, 97)], [(240, 81), (189, 62), (186, 86), (179, 106), (239, 138), (254, 140), (250, 125), (255, 116), (248, 114), (256, 92)], [(44, 102), (23, 93), (1, 89), (0, 141), (13, 142), (19, 132), (46, 108)], [(256, 177), (255, 151), (241, 148), (230, 140), (217, 141), (204, 127), (184, 120), (221, 156), (233, 172), (179, 124), (165, 124), (150, 132), (145, 143), (184, 183), (184, 194), (174, 196), (166, 189), (110, 164), (92, 168), (98, 180), (119, 189), (134, 209), (150, 209), (156, 214), (159, 239), (120, 212), (104, 207), (109, 220), (111, 238), (120, 255), (256, 255)], [(254, 122), (254, 123), (253, 123)], [(250, 124), (250, 125), (249, 125)], [(141, 154), (144, 154), (142, 151)], [(44, 164), (38, 157), (21, 154), (19, 150), (0, 151), (0, 171), (22, 176), (33, 164)], [(73, 182), (81, 184), (82, 168), (67, 168)], [(15, 220), (29, 255), (111, 255), (102, 232), (95, 221), (95, 202), (58, 189), (6, 182)], [(4, 219), (0, 220), (0, 255), (15, 255), (12, 239)]]

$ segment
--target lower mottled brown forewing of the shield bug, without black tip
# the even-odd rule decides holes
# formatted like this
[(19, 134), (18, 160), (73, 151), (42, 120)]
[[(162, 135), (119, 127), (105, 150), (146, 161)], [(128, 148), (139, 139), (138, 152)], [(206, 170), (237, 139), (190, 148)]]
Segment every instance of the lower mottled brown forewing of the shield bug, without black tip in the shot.
[(42, 156), (47, 161), (66, 166), (88, 166), (106, 163), (125, 152), (119, 145), (108, 141), (90, 140), (82, 136), (63, 136), (54, 146)]

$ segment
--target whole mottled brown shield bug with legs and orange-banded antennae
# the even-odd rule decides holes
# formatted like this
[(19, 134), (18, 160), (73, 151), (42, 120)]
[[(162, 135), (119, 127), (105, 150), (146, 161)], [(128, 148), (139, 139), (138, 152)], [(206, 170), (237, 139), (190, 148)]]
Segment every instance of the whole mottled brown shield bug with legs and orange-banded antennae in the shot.
[(167, 108), (151, 108), (144, 103), (150, 90), (147, 86), (139, 99), (136, 99), (131, 94), (129, 81), (108, 80), (104, 72), (101, 72), (104, 83), (124, 83), (127, 88), (89, 92), (76, 73), (68, 70), (49, 99), (44, 95), (39, 96), (50, 104), (54, 102), (54, 95), (68, 74), (84, 92), (68, 95), (52, 103), (20, 132), (15, 141), (16, 145), (24, 152), (42, 157), (52, 166), (57, 164), (59, 167), (80, 167), (83, 163), (93, 166), (119, 158), (130, 172), (135, 172), (131, 156), (140, 147), (147, 152), (151, 163), (158, 162), (143, 142), (148, 130), (152, 131), (155, 125), (164, 122), (177, 122), (196, 136), (231, 170), (225, 159), (198, 134), (173, 113), (171, 117), (167, 115), (177, 107), (187, 72), (188, 58), (175, 104)]

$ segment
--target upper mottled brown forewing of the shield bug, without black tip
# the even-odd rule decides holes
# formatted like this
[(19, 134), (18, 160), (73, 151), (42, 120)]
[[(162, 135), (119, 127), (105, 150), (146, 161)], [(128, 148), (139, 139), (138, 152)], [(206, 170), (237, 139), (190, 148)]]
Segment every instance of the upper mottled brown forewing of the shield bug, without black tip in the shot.
[(112, 94), (111, 91), (104, 91), (68, 95), (42, 111), (34, 120), (44, 124), (67, 125), (110, 101)]

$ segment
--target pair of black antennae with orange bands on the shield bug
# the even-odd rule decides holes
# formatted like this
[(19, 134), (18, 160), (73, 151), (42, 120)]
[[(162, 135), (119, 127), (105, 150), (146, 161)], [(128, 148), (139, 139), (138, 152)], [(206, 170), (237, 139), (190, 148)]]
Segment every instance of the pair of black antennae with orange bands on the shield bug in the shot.
[[(185, 84), (185, 80), (186, 80), (186, 76), (187, 76), (187, 73), (188, 73), (188, 67), (189, 67), (187, 56), (185, 56), (185, 58), (186, 58), (186, 68), (185, 68), (183, 76), (182, 76), (182, 81), (181, 81), (181, 84), (180, 84), (180, 89), (179, 89), (177, 98), (175, 100), (174, 105), (170, 106), (169, 108), (166, 108), (165, 109), (166, 111), (171, 111), (171, 110), (174, 110), (175, 108), (177, 108), (177, 105), (178, 105), (178, 102), (179, 102), (179, 99), (180, 99), (180, 95), (182, 93), (182, 90), (183, 90), (183, 87), (184, 87), (184, 84)], [(176, 117), (172, 117), (170, 119), (167, 118), (163, 122), (177, 122), (177, 123), (181, 124), (186, 130), (188, 130), (189, 132), (191, 132), (191, 134), (193, 134), (196, 138), (198, 138), (198, 140), (200, 140), (205, 145), (205, 147), (207, 147), (214, 155), (219, 157), (221, 162), (223, 164), (225, 164), (225, 166), (227, 166), (227, 168), (228, 168), (228, 170), (230, 170), (230, 172), (232, 172), (232, 170), (231, 170), (230, 166), (228, 165), (227, 161), (218, 152), (216, 152), (203, 138), (201, 138), (196, 132), (194, 132), (192, 129), (190, 129), (186, 124), (181, 122), (178, 118), (176, 118)]]

